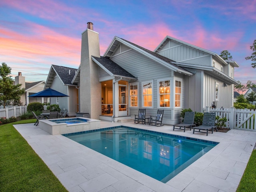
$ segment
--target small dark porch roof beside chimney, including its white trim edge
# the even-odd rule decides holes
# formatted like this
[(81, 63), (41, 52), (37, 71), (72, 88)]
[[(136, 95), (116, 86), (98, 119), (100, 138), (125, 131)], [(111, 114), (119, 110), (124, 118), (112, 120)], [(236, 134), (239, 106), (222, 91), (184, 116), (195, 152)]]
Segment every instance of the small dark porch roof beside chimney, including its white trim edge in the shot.
[(124, 70), (121, 66), (116, 64), (110, 58), (106, 58), (102, 56), (100, 56), (99, 58), (99, 57), (92, 56), (92, 60), (96, 62), (96, 64), (98, 64), (102, 69), (104, 69), (111, 76), (119, 76), (119, 77), (136, 79), (136, 77), (134, 77), (128, 71)]

